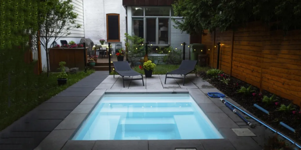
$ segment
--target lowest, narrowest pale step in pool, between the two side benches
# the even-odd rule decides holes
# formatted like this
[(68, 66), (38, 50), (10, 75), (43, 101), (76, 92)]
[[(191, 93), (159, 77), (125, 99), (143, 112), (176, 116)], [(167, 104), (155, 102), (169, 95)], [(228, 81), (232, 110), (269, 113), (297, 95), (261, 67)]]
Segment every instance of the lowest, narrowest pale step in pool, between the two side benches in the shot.
[(173, 118), (124, 118), (119, 122), (120, 125), (134, 124), (175, 124)]

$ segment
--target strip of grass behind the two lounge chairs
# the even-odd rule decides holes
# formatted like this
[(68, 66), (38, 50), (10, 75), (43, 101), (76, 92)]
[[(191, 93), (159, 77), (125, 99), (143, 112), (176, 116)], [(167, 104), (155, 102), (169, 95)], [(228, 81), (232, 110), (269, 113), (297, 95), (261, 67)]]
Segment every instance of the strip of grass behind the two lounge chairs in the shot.
[[(180, 65), (172, 65), (172, 64), (159, 64), (155, 67), (155, 69), (153, 70), (153, 74), (166, 74), (167, 72), (169, 71), (172, 71), (172, 70), (175, 70), (175, 69), (178, 69)], [(199, 66), (196, 66), (197, 68), (197, 72), (198, 71), (207, 71), (209, 70), (210, 68), (209, 67), (199, 67)], [(144, 74), (144, 70), (141, 70), (139, 68), (139, 66), (136, 66), (133, 68), (133, 70), (141, 73), (141, 74)], [(110, 73), (110, 75), (113, 75), (113, 72)]]

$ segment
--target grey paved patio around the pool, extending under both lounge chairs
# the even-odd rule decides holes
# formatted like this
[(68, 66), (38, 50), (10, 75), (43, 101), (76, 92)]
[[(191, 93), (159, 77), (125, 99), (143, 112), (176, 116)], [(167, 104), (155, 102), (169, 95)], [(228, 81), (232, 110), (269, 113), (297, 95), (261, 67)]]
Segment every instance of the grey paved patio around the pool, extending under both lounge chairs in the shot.
[[(126, 79), (129, 77), (125, 77)], [(135, 78), (135, 77), (134, 77)], [(139, 78), (139, 76), (137, 76)], [(36, 150), (171, 150), (175, 148), (196, 148), (197, 150), (261, 150), (264, 142), (272, 132), (256, 124), (252, 129), (238, 116), (232, 113), (219, 99), (207, 97), (207, 92), (220, 92), (208, 82), (195, 75), (188, 75), (185, 86), (181, 79), (167, 79), (165, 75), (153, 75), (144, 78), (145, 86), (141, 80), (125, 81), (123, 88), (122, 78), (108, 76), (84, 101), (82, 101), (55, 129), (52, 131)], [(213, 125), (225, 139), (212, 140), (70, 140), (83, 120), (93, 110), (99, 99), (104, 94), (163, 94), (163, 93), (189, 93)], [(237, 103), (227, 98), (236, 106)], [(243, 109), (242, 107), (240, 107)]]

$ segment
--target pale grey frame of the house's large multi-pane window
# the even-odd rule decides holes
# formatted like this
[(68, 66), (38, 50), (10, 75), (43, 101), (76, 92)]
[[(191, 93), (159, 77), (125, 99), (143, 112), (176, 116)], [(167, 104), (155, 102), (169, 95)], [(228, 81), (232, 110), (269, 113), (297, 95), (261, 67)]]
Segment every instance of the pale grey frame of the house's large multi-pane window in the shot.
[[(146, 19), (147, 18), (156, 18), (156, 44), (153, 44), (153, 46), (170, 46), (170, 35), (171, 35), (171, 32), (170, 32), (170, 29), (171, 29), (171, 9), (172, 7), (169, 7), (169, 16), (145, 16), (145, 8), (162, 8), (162, 7), (158, 7), (158, 6), (135, 6), (135, 7), (132, 7), (132, 8), (143, 8), (143, 16), (133, 16), (133, 13), (132, 14), (132, 20), (134, 18), (143, 18), (144, 19), (144, 42), (147, 42), (146, 41)], [(165, 6), (166, 7), (166, 6)], [(131, 9), (132, 9), (131, 8)], [(160, 18), (168, 18), (169, 19), (169, 23), (168, 23), (168, 44), (159, 44), (159, 19)], [(133, 27), (132, 27), (133, 28)]]

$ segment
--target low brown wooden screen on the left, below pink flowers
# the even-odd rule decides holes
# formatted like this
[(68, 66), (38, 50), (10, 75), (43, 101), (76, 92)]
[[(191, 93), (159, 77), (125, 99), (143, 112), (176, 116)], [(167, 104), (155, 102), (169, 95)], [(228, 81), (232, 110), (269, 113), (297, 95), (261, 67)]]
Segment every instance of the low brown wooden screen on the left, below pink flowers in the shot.
[[(87, 49), (88, 47), (86, 47)], [(86, 56), (87, 56), (86, 50)], [(51, 48), (49, 50), (49, 67), (50, 71), (58, 72), (59, 63), (66, 62), (66, 67), (78, 67), (79, 70), (85, 69), (84, 49), (83, 48)]]

